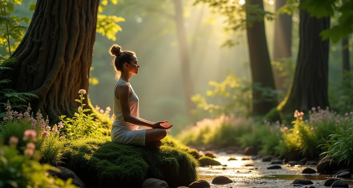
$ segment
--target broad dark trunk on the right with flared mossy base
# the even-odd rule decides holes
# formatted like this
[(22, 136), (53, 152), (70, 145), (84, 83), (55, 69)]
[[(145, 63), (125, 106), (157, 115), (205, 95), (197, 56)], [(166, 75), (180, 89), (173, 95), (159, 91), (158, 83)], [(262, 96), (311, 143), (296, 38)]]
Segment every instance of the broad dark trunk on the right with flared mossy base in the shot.
[[(301, 3), (304, 1), (300, 0)], [(329, 106), (329, 40), (322, 41), (319, 35), (329, 27), (329, 17), (317, 19), (310, 17), (306, 10), (300, 10), (298, 61), (291, 89), (278, 106), (283, 114)]]

